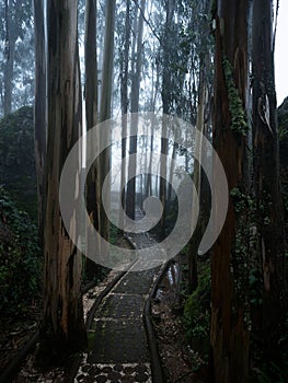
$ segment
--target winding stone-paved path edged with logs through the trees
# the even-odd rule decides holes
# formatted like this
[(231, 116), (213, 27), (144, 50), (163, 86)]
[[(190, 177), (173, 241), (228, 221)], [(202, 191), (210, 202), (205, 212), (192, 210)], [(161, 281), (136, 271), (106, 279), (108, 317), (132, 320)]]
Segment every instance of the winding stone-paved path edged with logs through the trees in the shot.
[[(140, 210), (136, 216), (141, 218)], [(131, 234), (129, 240), (138, 249), (157, 245), (148, 233)], [(74, 382), (152, 382), (143, 312), (161, 266), (134, 269), (165, 260), (164, 251), (148, 248), (104, 298), (89, 333), (89, 352)]]

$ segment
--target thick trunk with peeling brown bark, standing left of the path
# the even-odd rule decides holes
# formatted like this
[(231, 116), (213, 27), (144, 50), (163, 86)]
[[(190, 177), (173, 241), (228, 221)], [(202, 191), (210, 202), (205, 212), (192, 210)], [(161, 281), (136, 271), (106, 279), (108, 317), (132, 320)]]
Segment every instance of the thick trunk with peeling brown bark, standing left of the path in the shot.
[[(81, 254), (69, 237), (59, 208), (65, 161), (81, 131), (81, 85), (77, 2), (48, 1), (47, 204), (44, 228), (44, 357), (65, 356), (85, 344)], [(78, 179), (80, 179), (81, 158)], [(77, 198), (77, 193), (74, 198)], [(79, 217), (71, 217), (76, 227)]]

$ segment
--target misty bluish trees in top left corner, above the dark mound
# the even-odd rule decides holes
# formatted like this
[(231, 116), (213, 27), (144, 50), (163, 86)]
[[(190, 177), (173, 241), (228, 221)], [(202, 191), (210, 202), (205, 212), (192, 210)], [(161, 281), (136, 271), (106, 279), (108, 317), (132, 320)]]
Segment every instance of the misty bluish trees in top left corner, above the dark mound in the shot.
[[(32, 0), (4, 0), (0, 4), (2, 114), (33, 102), (34, 35)], [(16, 86), (18, 85), (18, 86)]]

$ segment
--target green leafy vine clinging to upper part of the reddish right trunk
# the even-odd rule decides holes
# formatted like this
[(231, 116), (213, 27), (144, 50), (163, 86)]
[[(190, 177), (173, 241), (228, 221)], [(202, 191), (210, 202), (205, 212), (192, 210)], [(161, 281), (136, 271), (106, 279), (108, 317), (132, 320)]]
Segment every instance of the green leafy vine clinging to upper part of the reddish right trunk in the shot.
[(228, 90), (231, 130), (241, 136), (246, 136), (249, 129), (246, 113), (233, 79), (233, 68), (227, 57), (222, 58), (222, 67)]

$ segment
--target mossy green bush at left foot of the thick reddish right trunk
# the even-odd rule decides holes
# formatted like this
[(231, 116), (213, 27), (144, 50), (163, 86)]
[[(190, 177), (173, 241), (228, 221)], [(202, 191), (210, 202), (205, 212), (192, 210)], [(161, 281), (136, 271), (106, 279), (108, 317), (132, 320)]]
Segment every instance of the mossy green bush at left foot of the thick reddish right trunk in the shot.
[(199, 265), (198, 287), (184, 306), (184, 326), (188, 341), (209, 338), (210, 329), (210, 262)]

